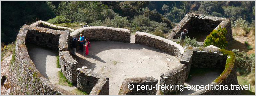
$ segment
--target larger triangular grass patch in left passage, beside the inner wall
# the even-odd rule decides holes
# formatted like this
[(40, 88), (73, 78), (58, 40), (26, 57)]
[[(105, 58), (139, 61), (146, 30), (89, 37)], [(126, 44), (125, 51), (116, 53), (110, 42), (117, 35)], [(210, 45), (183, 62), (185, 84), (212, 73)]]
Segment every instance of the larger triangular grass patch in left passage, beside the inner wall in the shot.
[(59, 85), (73, 87), (73, 84), (63, 75), (61, 71), (58, 71)]

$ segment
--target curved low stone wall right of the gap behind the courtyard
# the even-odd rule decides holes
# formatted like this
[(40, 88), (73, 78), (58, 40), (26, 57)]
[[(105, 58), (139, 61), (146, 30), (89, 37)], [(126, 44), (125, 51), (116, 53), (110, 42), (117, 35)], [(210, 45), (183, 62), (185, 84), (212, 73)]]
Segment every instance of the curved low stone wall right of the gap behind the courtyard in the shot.
[(145, 32), (136, 32), (135, 43), (160, 49), (178, 58), (181, 58), (184, 53), (183, 47), (176, 42)]

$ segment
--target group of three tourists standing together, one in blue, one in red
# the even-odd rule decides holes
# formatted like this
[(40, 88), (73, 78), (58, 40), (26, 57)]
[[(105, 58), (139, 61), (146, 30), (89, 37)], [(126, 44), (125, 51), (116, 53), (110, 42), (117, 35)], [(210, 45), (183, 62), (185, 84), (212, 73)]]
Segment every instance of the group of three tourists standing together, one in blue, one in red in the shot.
[(72, 47), (72, 54), (76, 55), (76, 42), (79, 42), (79, 50), (81, 51), (81, 53), (84, 52), (84, 48), (85, 48), (85, 55), (89, 54), (89, 48), (91, 46), (89, 39), (86, 38), (80, 34), (79, 39), (77, 40), (77, 38), (73, 38), (72, 39), (72, 43), (71, 43), (71, 47)]

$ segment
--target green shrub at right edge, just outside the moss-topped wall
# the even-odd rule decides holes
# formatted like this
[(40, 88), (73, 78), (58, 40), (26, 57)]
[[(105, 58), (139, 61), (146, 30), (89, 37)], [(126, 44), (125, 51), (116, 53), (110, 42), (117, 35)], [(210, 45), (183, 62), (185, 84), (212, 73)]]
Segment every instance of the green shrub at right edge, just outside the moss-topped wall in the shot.
[(247, 55), (246, 52), (233, 49), (232, 52), (235, 53), (235, 65), (240, 74), (247, 74), (255, 68), (255, 54), (251, 56)]

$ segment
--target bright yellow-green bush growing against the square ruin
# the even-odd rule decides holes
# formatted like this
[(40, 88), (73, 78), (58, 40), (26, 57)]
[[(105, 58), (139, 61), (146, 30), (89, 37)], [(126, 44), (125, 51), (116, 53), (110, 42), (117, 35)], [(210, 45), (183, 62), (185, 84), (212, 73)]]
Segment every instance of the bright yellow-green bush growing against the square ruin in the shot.
[(226, 41), (226, 28), (219, 27), (218, 30), (213, 30), (204, 40), (204, 46), (214, 45), (221, 49), (225, 48), (228, 44)]

